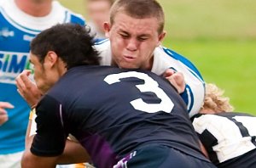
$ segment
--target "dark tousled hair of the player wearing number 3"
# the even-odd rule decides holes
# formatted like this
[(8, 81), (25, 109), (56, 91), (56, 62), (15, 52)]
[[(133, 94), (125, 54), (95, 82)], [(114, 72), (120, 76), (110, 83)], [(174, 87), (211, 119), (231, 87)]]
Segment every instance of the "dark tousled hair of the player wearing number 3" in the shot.
[(42, 31), (30, 43), (31, 53), (41, 63), (49, 51), (55, 52), (67, 70), (82, 64), (99, 64), (98, 53), (93, 48), (90, 29), (78, 24), (58, 24)]

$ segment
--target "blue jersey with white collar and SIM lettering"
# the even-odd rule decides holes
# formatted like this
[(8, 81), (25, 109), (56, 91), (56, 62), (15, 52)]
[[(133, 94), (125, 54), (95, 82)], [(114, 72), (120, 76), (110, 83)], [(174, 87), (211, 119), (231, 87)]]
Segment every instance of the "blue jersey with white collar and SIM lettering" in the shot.
[(78, 23), (84, 19), (73, 14), (58, 2), (52, 3), (50, 14), (32, 17), (20, 11), (14, 0), (0, 3), (0, 101), (15, 105), (7, 109), (9, 120), (0, 126), (0, 154), (12, 154), (24, 150), (29, 106), (20, 97), (15, 77), (24, 69), (31, 69), (29, 43), (40, 31), (57, 23)]

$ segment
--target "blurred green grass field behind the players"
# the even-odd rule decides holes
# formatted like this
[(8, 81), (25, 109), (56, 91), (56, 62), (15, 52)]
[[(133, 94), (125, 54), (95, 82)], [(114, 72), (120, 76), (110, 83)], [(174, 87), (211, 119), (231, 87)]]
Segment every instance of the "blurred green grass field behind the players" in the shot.
[[(86, 18), (83, 0), (60, 1)], [(190, 59), (205, 81), (223, 88), (236, 111), (256, 115), (256, 1), (159, 2), (166, 14), (164, 45)]]

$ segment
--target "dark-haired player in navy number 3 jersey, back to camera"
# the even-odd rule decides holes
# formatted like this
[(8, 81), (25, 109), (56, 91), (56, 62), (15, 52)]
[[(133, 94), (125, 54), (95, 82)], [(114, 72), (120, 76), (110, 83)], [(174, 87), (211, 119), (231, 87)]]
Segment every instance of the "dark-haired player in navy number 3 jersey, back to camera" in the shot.
[[(55, 25), (41, 32), (30, 56), (44, 97), (22, 167), (55, 167), (68, 156), (88, 161), (81, 148), (67, 147), (68, 134), (99, 168), (215, 167), (201, 153), (186, 105), (168, 81), (143, 70), (97, 66), (83, 26)], [(80, 155), (66, 153), (67, 148)]]

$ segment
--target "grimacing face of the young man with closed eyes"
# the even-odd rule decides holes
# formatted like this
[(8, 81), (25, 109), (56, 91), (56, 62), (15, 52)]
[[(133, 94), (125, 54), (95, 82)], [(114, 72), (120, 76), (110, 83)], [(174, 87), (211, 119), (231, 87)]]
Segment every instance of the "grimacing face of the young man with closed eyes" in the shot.
[(165, 33), (158, 33), (156, 18), (136, 19), (119, 12), (113, 25), (105, 24), (111, 42), (113, 62), (120, 68), (151, 70), (154, 48), (160, 45)]

